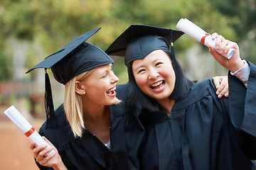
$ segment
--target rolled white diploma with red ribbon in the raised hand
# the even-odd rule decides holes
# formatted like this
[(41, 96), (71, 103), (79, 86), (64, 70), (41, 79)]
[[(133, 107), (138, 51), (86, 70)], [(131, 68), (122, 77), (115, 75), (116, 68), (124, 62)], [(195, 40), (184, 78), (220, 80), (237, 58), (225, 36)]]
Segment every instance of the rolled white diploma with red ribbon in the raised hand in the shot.
[[(181, 18), (178, 21), (176, 28), (191, 36), (191, 38), (202, 42), (207, 47), (209, 47), (209, 45), (213, 45), (213, 47), (215, 48), (215, 40), (211, 38), (210, 34), (206, 33), (205, 30), (196, 26), (196, 24), (192, 23), (187, 18)], [(216, 52), (220, 53), (220, 50), (216, 50)], [(228, 53), (223, 54), (223, 56), (230, 59), (233, 56), (234, 52), (235, 49), (231, 48)]]

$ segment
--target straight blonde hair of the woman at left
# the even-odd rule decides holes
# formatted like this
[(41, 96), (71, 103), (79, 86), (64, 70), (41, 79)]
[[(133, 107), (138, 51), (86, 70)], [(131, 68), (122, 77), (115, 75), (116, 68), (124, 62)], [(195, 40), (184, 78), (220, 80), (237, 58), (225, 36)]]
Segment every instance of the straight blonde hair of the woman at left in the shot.
[[(68, 123), (75, 137), (82, 137), (82, 130), (85, 128), (85, 122), (82, 114), (82, 96), (75, 92), (75, 81), (82, 81), (95, 69), (90, 69), (87, 72), (78, 74), (78, 76), (70, 79), (65, 84), (65, 96), (64, 96), (64, 110)], [(114, 104), (120, 103), (117, 101)]]

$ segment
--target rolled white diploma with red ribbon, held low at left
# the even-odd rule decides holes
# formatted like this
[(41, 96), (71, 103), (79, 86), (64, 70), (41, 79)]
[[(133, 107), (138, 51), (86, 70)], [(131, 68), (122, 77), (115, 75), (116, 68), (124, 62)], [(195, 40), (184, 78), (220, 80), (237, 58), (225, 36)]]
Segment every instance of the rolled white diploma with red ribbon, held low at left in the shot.
[[(36, 142), (36, 147), (39, 145), (48, 145), (48, 143), (43, 140), (43, 137), (39, 135), (39, 133), (33, 128), (33, 126), (28, 123), (28, 121), (18, 112), (18, 110), (14, 106), (10, 106), (9, 108), (4, 111), (4, 114), (8, 116), (17, 126), (22, 130), (24, 135), (28, 137), (28, 140), (31, 142)], [(48, 145), (48, 147), (50, 147)], [(46, 156), (54, 153), (53, 150), (48, 152)]]

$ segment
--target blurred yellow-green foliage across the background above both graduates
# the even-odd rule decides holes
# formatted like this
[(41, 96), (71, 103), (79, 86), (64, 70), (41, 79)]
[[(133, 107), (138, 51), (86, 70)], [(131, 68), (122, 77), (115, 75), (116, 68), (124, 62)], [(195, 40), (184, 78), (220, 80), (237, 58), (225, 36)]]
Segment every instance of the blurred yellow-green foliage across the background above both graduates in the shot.
[[(176, 29), (180, 18), (190, 19), (208, 33), (217, 32), (240, 42), (255, 27), (255, 14), (253, 1), (238, 0), (1, 1), (0, 50), (5, 50), (4, 45), (8, 43), (5, 40), (14, 35), (21, 40), (39, 43), (47, 57), (75, 36), (98, 27), (102, 29), (88, 42), (106, 50), (110, 42), (133, 23)], [(186, 50), (194, 43), (198, 42), (183, 35), (174, 43), (176, 52)], [(251, 44), (255, 44), (255, 39)], [(37, 54), (35, 49), (28, 52), (26, 69), (38, 62)], [(4, 57), (7, 56), (1, 55), (0, 60), (4, 61)], [(121, 59), (114, 60), (118, 63)], [(121, 67), (115, 72), (122, 75), (126, 69)]]

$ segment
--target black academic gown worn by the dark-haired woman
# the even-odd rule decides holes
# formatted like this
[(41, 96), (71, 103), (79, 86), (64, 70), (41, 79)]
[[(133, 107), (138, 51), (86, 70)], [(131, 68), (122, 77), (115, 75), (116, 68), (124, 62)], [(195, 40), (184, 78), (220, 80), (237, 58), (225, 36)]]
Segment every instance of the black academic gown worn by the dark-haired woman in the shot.
[(229, 75), (228, 98), (219, 99), (206, 79), (175, 102), (170, 117), (142, 110), (142, 169), (256, 169), (256, 67), (249, 64), (247, 89)]

